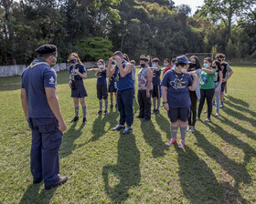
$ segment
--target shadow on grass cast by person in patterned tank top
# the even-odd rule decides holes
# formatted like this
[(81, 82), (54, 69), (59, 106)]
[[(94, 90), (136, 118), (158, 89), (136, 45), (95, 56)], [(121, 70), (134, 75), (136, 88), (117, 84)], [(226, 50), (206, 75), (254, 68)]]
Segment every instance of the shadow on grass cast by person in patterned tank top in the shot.
[(141, 129), (144, 134), (145, 142), (150, 145), (152, 149), (152, 155), (154, 158), (165, 156), (165, 149), (168, 149), (161, 138), (161, 134), (155, 130), (155, 125), (151, 120), (141, 122)]

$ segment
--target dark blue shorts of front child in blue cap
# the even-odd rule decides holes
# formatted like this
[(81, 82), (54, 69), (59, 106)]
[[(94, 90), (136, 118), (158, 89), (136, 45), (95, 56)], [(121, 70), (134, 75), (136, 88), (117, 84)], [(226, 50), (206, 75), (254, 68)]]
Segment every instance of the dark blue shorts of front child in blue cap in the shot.
[(168, 111), (168, 117), (172, 123), (176, 123), (177, 120), (187, 122), (187, 117), (190, 115), (190, 107), (170, 107)]

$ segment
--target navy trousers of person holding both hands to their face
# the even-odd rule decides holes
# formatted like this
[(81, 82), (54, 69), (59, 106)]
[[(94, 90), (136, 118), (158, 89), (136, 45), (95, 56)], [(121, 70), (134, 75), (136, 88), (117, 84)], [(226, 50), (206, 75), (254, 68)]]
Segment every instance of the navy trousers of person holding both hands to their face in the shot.
[(133, 88), (117, 91), (117, 107), (120, 113), (119, 125), (133, 125)]

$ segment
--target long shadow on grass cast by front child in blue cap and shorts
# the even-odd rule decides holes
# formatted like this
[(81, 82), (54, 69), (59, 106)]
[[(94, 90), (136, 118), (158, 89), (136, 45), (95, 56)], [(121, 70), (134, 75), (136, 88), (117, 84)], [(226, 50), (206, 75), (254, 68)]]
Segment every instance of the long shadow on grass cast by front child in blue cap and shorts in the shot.
[(176, 146), (176, 152), (184, 196), (191, 203), (223, 203), (222, 188), (208, 164), (187, 146), (184, 150)]

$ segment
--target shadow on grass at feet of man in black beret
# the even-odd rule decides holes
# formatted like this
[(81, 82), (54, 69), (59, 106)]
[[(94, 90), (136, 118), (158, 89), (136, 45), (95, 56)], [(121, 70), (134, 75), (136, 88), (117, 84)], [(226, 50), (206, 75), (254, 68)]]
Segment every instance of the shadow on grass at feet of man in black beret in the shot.
[(49, 190), (42, 189), (39, 192), (41, 184), (30, 184), (27, 187), (26, 192), (23, 194), (22, 199), (19, 201), (19, 204), (27, 204), (27, 203), (43, 203), (48, 204), (50, 203), (50, 199), (53, 197), (56, 188), (52, 188)]

